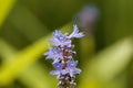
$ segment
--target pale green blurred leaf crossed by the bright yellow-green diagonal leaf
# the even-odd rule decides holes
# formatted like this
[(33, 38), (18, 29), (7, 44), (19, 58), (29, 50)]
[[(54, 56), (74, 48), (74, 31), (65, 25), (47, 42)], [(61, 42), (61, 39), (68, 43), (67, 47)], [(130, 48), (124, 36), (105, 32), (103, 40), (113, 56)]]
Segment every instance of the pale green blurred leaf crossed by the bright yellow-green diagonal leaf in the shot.
[[(7, 44), (4, 41), (0, 40), (0, 55), (3, 58), (3, 64), (10, 64), (11, 61), (9, 57), (13, 57), (17, 54), (17, 51)], [(49, 81), (53, 81), (53, 77), (48, 74), (45, 67), (40, 66), (38, 63), (31, 65), (30, 67), (22, 70), (18, 76), (19, 80), (25, 84), (30, 88), (51, 88), (54, 85), (51, 85)], [(54, 81), (53, 81), (54, 82)]]

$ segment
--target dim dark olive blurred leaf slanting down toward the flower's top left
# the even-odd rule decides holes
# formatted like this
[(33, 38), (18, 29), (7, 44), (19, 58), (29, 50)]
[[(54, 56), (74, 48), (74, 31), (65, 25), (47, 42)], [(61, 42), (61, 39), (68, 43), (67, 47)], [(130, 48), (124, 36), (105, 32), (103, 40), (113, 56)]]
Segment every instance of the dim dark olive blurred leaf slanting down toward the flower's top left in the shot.
[[(44, 26), (39, 18), (19, 2), (16, 4), (8, 21), (14, 26), (13, 29), (17, 29), (17, 31), (22, 33), (31, 42), (50, 33), (50, 30)], [(4, 26), (9, 26), (8, 23)]]

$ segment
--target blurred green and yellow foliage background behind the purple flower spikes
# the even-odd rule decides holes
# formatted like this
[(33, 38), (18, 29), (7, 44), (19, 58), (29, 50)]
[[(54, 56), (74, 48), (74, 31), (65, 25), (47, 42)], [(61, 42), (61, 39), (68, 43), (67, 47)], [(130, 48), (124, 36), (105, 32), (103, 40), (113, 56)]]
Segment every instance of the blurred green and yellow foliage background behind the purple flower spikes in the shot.
[(85, 37), (73, 42), (76, 87), (133, 88), (132, 0), (0, 0), (0, 88), (57, 88), (47, 38), (55, 29), (72, 32), (86, 4), (100, 14), (94, 31), (81, 28)]

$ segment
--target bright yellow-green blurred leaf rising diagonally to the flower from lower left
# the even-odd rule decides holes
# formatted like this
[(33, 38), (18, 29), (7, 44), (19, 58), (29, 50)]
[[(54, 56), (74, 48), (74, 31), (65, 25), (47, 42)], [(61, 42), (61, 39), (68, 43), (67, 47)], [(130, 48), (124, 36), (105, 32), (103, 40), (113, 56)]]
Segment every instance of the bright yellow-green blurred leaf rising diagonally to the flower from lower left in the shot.
[(4, 64), (0, 70), (0, 84), (9, 84), (22, 69), (35, 63), (41, 55), (43, 55), (48, 41), (45, 37), (33, 43), (29, 47), (19, 52), (16, 56), (9, 57), (10, 64)]

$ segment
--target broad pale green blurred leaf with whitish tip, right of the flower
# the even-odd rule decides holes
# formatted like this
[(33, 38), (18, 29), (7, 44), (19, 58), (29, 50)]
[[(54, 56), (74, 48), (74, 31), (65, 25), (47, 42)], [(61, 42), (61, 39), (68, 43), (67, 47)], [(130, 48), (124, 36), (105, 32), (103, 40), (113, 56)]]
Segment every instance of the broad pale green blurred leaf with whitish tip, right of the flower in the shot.
[[(84, 67), (82, 82), (79, 88), (101, 88), (102, 85), (115, 78), (131, 62), (133, 55), (132, 45), (132, 37), (124, 38), (96, 55)], [(93, 86), (91, 86), (92, 84)]]

